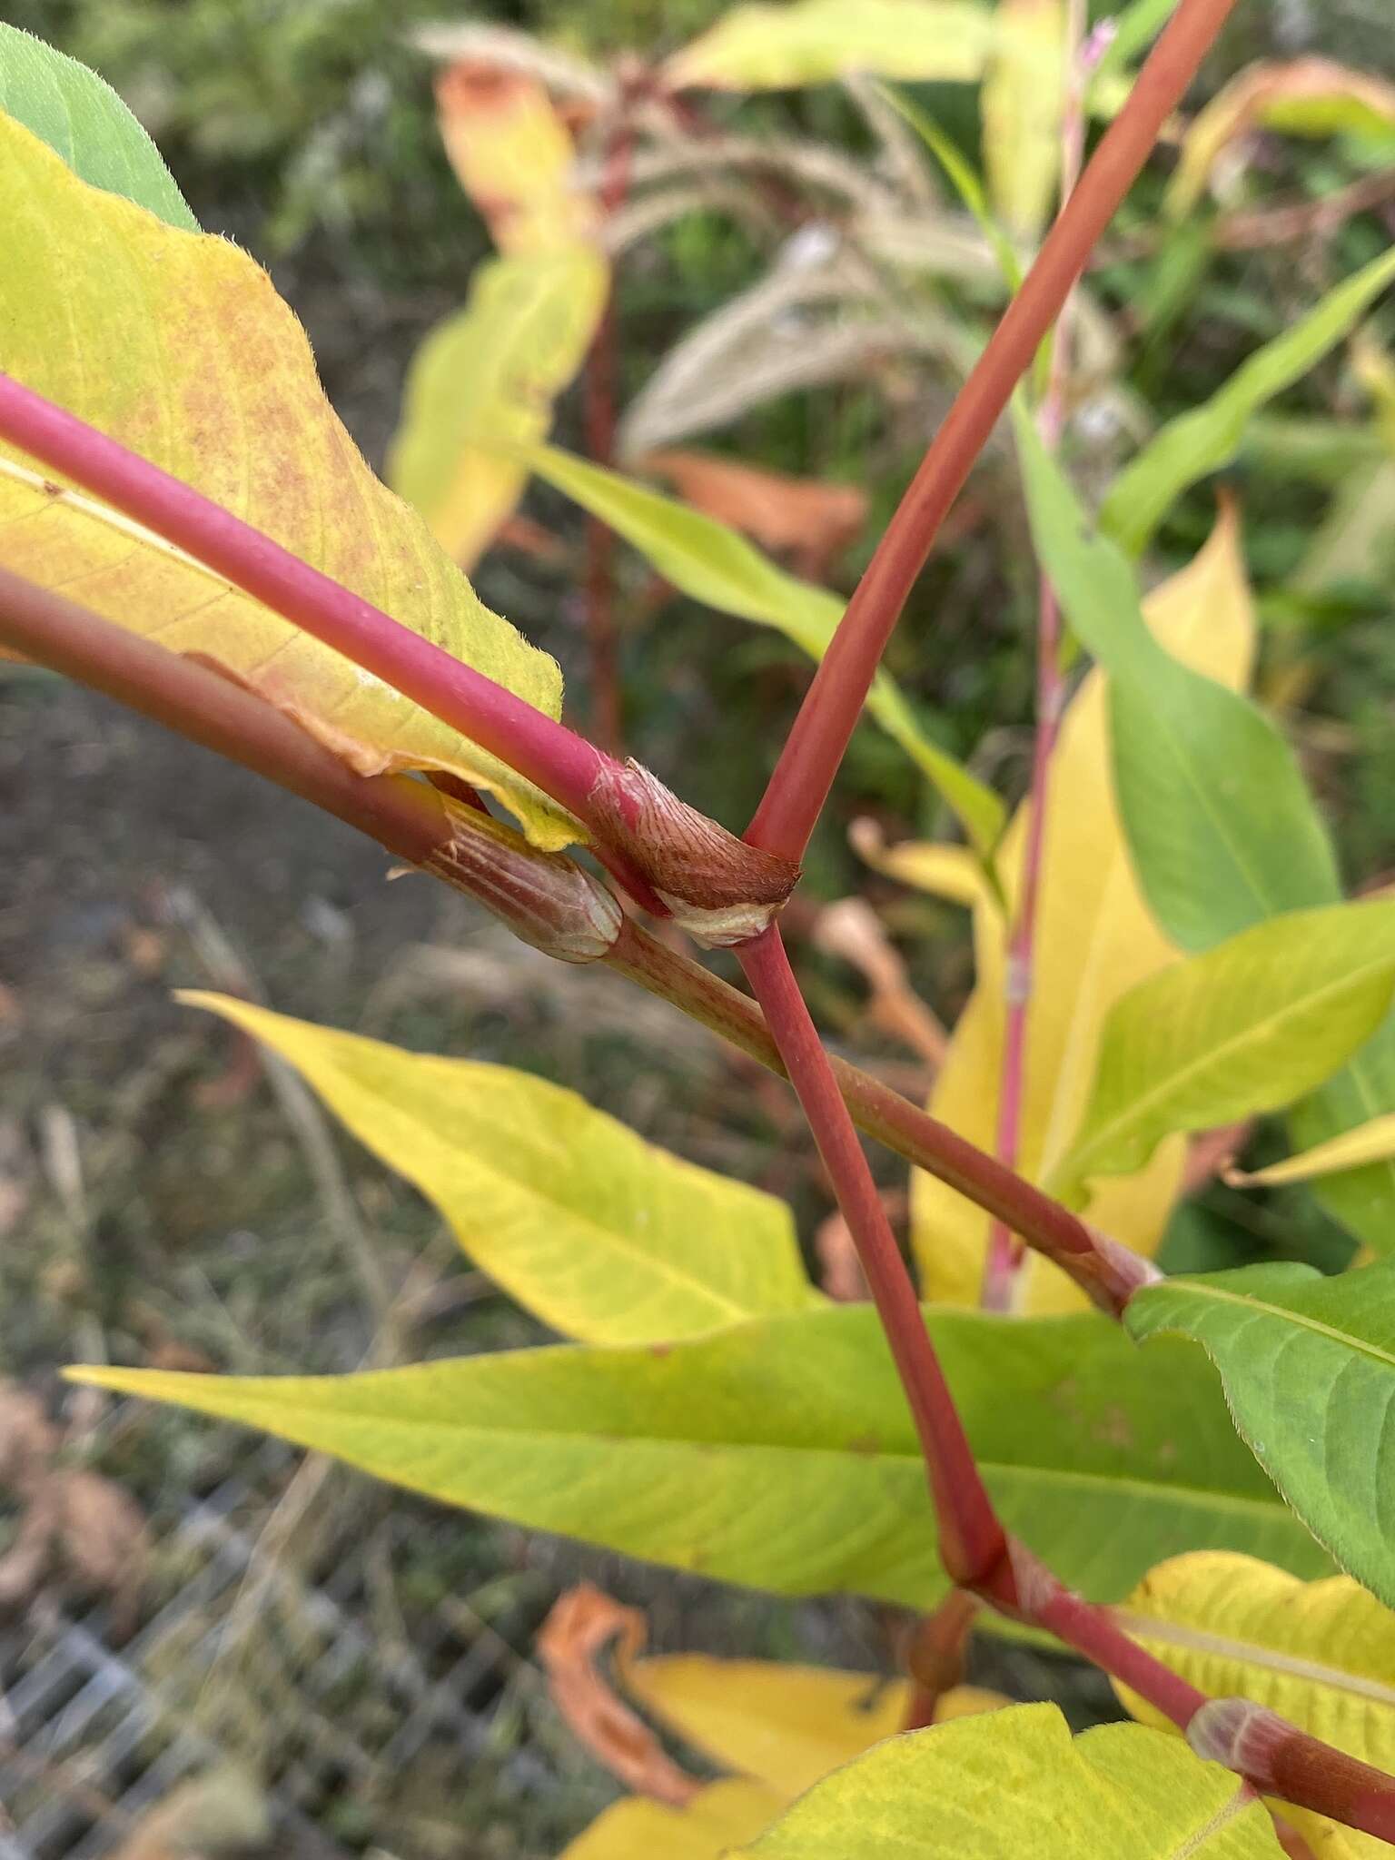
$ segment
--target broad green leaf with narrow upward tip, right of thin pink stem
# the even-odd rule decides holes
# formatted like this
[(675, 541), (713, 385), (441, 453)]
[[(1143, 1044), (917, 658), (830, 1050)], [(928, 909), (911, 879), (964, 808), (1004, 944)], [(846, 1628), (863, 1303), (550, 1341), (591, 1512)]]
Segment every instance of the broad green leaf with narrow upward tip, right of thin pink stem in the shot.
[(1337, 870), (1289, 746), (1239, 692), (1153, 638), (1131, 565), (1016, 407), (1032, 541), (1071, 627), (1110, 673), (1114, 783), (1138, 880), (1181, 949), (1330, 904)]

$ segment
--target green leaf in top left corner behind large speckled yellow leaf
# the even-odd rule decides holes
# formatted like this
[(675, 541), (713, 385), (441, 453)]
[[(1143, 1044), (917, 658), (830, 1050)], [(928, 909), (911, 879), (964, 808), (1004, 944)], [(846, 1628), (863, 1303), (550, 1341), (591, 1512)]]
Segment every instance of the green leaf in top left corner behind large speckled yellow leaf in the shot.
[(164, 156), (112, 86), (76, 58), (4, 20), (0, 112), (33, 130), (93, 188), (119, 193), (171, 227), (199, 231)]

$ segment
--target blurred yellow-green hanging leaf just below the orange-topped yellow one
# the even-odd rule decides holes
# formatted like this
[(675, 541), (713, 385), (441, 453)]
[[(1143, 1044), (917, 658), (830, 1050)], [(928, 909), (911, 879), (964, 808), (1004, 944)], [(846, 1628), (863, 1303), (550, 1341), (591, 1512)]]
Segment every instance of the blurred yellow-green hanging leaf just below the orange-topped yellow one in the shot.
[(523, 495), (528, 467), (515, 454), (547, 437), (608, 288), (590, 246), (495, 259), (474, 272), (465, 309), (417, 350), (387, 478), (463, 567)]

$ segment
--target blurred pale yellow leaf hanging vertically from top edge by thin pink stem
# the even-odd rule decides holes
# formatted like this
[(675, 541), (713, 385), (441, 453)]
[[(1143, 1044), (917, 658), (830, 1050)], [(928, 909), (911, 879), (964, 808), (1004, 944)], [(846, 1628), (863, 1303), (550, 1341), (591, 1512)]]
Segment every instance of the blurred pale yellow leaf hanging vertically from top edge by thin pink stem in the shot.
[(1060, 0), (999, 0), (984, 76), (984, 167), (999, 219), (1036, 240), (1060, 182), (1066, 32)]

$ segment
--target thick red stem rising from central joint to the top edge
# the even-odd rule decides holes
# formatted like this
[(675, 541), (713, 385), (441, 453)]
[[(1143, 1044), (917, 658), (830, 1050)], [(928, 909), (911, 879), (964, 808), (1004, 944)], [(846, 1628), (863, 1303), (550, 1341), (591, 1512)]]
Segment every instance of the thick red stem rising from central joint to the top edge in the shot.
[(1148, 160), (1235, 0), (1181, 0), (936, 433), (805, 694), (746, 839), (800, 859), (936, 532), (1090, 249)]

